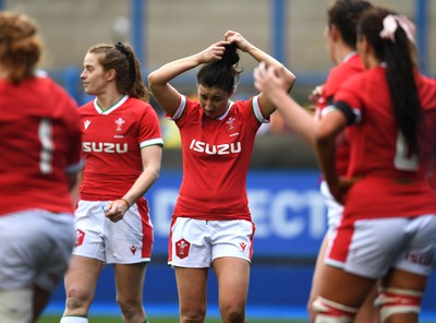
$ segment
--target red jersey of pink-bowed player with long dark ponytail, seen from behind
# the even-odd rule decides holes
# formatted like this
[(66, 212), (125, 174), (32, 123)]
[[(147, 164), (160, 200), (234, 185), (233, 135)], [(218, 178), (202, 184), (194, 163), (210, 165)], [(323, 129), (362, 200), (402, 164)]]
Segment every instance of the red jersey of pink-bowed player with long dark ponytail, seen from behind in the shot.
[(347, 194), (344, 216), (355, 218), (416, 216), (436, 213), (435, 194), (426, 181), (436, 129), (436, 81), (416, 77), (426, 129), (423, 156), (408, 154), (392, 112), (385, 68), (367, 70), (335, 96), (348, 104), (358, 122), (347, 128), (351, 144), (348, 176), (363, 176)]

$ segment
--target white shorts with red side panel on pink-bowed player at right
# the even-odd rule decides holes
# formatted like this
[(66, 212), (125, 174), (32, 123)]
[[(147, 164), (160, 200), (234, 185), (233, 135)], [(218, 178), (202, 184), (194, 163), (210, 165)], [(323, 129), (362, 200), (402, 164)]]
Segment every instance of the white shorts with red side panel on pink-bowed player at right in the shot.
[(380, 278), (389, 268), (428, 275), (436, 253), (436, 215), (343, 219), (329, 236), (325, 262)]

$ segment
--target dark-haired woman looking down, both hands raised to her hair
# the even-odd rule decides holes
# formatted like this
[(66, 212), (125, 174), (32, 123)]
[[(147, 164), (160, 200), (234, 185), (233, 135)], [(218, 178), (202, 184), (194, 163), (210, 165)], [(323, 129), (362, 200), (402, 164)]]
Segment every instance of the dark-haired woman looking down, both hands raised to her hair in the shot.
[[(232, 31), (225, 40), (148, 75), (156, 100), (182, 140), (183, 182), (168, 260), (175, 272), (180, 322), (204, 322), (209, 267), (218, 279), (222, 322), (245, 322), (254, 236), (245, 181), (256, 132), (275, 107), (262, 93), (230, 99), (241, 73), (238, 49), (282, 70), (287, 91), (292, 87), (290, 71)], [(198, 65), (198, 100), (192, 100), (169, 82)]]

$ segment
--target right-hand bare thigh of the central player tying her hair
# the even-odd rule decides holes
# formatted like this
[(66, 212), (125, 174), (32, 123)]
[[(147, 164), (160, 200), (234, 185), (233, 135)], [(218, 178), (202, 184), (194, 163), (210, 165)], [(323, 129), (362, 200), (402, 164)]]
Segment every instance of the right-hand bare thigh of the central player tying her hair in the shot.
[(213, 262), (218, 280), (219, 303), (245, 306), (250, 284), (249, 261), (235, 258), (217, 258)]

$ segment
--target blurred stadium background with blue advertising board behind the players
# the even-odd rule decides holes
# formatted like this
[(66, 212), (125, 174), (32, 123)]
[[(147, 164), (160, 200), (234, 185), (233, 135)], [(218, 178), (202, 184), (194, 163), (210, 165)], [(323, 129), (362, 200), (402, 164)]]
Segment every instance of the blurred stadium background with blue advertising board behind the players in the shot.
[[(435, 76), (436, 1), (372, 2), (390, 7), (415, 22), (420, 68)], [(84, 94), (78, 75), (87, 49), (95, 44), (123, 41), (133, 46), (146, 80), (154, 69), (197, 52), (233, 29), (294, 72), (296, 83), (292, 95), (306, 106), (307, 95), (324, 82), (332, 67), (323, 38), (326, 10), (331, 3), (327, 0), (0, 0), (0, 10), (23, 12), (37, 22), (45, 40), (40, 68), (66, 87), (78, 104), (92, 99)], [(255, 93), (253, 69), (256, 65), (251, 57), (242, 55), (244, 73), (234, 99)], [(178, 77), (173, 85), (195, 96), (195, 71)], [(161, 177), (146, 195), (155, 226), (155, 246), (146, 277), (145, 307), (152, 313), (177, 313), (175, 283), (166, 258), (182, 160), (177, 129), (155, 107), (161, 116), (166, 147)], [(292, 134), (278, 113), (274, 115), (256, 140), (247, 181), (250, 207), (256, 224), (249, 315), (305, 318), (313, 266), (326, 230), (318, 179), (313, 153)], [(111, 268), (106, 268), (93, 306), (95, 312), (114, 308), (112, 277)], [(214, 314), (217, 302), (214, 275), (210, 275), (209, 294), (209, 313)], [(61, 314), (63, 301), (61, 286), (48, 312)], [(436, 322), (434, 274), (423, 311)]]

